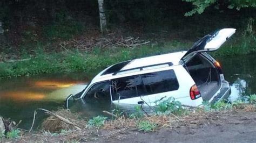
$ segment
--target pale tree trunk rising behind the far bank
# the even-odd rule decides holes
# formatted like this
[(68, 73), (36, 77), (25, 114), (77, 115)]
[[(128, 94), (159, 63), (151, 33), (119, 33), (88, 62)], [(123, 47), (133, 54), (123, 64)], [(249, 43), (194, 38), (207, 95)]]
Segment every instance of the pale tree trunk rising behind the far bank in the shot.
[(104, 0), (98, 0), (100, 31), (104, 33), (106, 31), (106, 16), (105, 16), (103, 3), (104, 3)]

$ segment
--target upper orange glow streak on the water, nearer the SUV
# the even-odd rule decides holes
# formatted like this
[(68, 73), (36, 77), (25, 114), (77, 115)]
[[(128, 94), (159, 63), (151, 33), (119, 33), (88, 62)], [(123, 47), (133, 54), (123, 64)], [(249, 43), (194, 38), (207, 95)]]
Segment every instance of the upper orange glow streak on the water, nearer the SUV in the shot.
[(59, 81), (37, 81), (35, 82), (36, 87), (40, 88), (67, 88), (75, 85), (75, 82), (59, 82)]

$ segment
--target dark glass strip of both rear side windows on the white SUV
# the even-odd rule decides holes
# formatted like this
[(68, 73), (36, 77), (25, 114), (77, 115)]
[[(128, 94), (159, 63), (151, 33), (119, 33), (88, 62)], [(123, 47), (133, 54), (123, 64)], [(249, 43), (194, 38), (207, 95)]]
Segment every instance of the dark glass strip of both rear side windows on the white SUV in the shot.
[(112, 80), (111, 84), (113, 101), (159, 94), (179, 88), (174, 70), (117, 78)]

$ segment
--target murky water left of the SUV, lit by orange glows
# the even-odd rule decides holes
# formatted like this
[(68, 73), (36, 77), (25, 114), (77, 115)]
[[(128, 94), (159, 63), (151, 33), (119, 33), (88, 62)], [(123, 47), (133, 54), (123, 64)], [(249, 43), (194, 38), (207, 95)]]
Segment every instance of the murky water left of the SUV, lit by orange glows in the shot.
[[(53, 74), (35, 77), (19, 77), (1, 80), (0, 115), (10, 117), (21, 126), (31, 126), (33, 111), (37, 108), (48, 110), (62, 107), (66, 96), (83, 90), (89, 78), (84, 73)], [(38, 113), (36, 122), (44, 114)]]

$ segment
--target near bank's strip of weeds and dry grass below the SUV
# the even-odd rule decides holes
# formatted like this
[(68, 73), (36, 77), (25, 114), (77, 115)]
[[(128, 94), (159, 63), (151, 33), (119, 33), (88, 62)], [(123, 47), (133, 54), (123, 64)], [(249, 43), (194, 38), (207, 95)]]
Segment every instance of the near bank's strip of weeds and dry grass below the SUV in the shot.
[[(215, 123), (228, 124), (234, 121), (233, 117), (238, 117), (236, 120), (244, 120), (251, 114), (254, 115), (251, 120), (253, 123), (255, 105), (256, 95), (246, 96), (245, 101), (239, 100), (233, 103), (224, 101), (215, 104), (204, 103), (204, 107), (201, 108), (184, 108), (180, 102), (170, 98), (151, 107), (153, 112), (145, 112), (143, 110), (145, 106), (136, 106), (136, 111), (133, 113), (128, 114), (114, 109), (112, 112), (107, 112), (106, 115), (109, 117), (97, 116), (91, 119), (69, 110), (43, 109), (50, 117), (44, 120), (41, 130), (28, 132), (12, 128), (11, 131), (0, 136), (0, 141), (1, 139), (3, 141), (104, 141), (109, 138), (113, 141), (123, 139), (127, 134), (179, 130), (181, 127), (195, 129)], [(246, 117), (246, 120), (250, 119)]]

